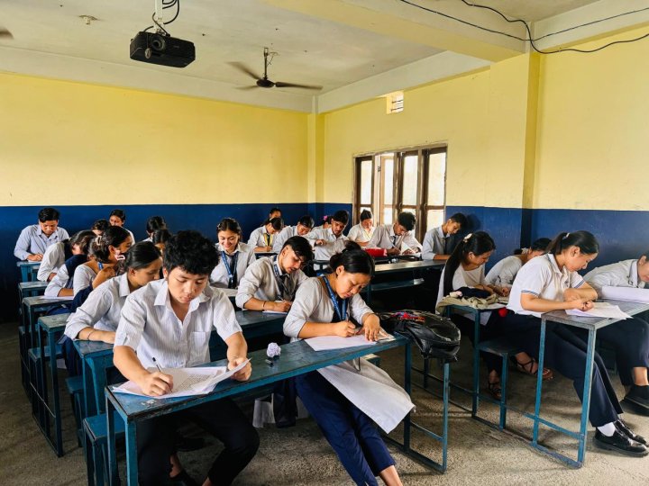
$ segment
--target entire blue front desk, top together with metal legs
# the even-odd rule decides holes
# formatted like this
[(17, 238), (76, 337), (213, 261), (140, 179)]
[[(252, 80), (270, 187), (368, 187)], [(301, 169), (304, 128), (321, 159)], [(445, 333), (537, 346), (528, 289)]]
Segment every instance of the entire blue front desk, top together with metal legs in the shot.
[[(108, 430), (108, 467), (110, 484), (119, 482), (117, 473), (117, 458), (115, 455), (115, 419), (119, 417), (124, 422), (125, 443), (126, 443), (126, 480), (129, 486), (138, 482), (137, 465), (137, 443), (135, 437), (136, 423), (140, 420), (166, 415), (178, 410), (186, 410), (192, 406), (215, 401), (224, 397), (233, 396), (242, 392), (248, 392), (256, 388), (276, 383), (280, 380), (306, 374), (325, 366), (336, 365), (350, 359), (359, 358), (371, 353), (378, 353), (394, 347), (405, 348), (405, 390), (410, 390), (410, 342), (407, 338), (397, 337), (393, 341), (379, 342), (371, 347), (354, 347), (338, 349), (333, 351), (313, 351), (305, 342), (297, 341), (282, 346), (282, 356), (272, 367), (264, 364), (265, 352), (255, 351), (251, 353), (252, 377), (245, 383), (237, 383), (232, 380), (216, 385), (215, 391), (200, 397), (187, 397), (169, 400), (147, 400), (146, 397), (133, 395), (115, 394), (112, 387), (105, 390), (106, 398), (106, 420)], [(291, 360), (288, 356), (293, 357)], [(211, 365), (226, 365), (227, 361), (222, 360)], [(256, 373), (255, 373), (256, 372)], [(255, 379), (257, 374), (257, 379)], [(260, 377), (260, 374), (262, 376)], [(410, 415), (404, 419), (403, 450), (410, 454)], [(416, 457), (416, 456), (415, 456)], [(422, 456), (423, 457), (423, 456)], [(416, 457), (418, 458), (418, 457)], [(427, 458), (425, 458), (427, 459)], [(427, 459), (430, 461), (429, 459)], [(431, 461), (432, 462), (432, 461)]]

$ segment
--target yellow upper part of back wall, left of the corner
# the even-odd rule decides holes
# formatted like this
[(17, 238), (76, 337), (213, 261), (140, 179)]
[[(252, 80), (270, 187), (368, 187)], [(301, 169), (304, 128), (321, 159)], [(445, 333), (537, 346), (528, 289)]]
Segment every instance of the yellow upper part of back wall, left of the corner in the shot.
[(307, 201), (304, 113), (9, 74), (0, 100), (2, 206)]

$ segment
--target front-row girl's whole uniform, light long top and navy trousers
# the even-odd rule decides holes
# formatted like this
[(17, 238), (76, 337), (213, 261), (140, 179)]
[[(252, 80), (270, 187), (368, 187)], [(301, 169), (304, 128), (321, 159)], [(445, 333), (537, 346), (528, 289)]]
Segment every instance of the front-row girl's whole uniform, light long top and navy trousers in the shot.
[[(372, 313), (359, 294), (344, 303), (332, 295), (320, 277), (307, 279), (284, 321), (284, 334), (296, 341), (306, 322), (338, 322), (342, 313), (343, 319), (349, 316), (360, 323)], [(377, 485), (376, 476), (395, 462), (372, 422), (389, 432), (414, 405), (388, 374), (364, 360), (358, 366), (361, 371), (352, 363), (343, 363), (299, 375), (297, 395), (352, 480)]]

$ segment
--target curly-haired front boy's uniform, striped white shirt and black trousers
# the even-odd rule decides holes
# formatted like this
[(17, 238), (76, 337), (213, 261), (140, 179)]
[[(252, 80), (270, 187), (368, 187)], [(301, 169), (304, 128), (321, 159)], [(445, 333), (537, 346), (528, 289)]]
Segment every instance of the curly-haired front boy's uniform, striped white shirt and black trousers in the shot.
[[(144, 367), (178, 368), (209, 361), (209, 338), (216, 329), (223, 340), (241, 332), (232, 304), (224, 293), (209, 286), (189, 302), (184, 320), (171, 308), (167, 281), (145, 285), (126, 298), (114, 346), (131, 347)], [(155, 358), (155, 362), (153, 361)], [(259, 437), (242, 411), (230, 399), (211, 401), (137, 426), (140, 484), (169, 479), (169, 456), (175, 452), (178, 419), (196, 421), (224, 443), (207, 476), (215, 484), (230, 484), (251, 461)]]

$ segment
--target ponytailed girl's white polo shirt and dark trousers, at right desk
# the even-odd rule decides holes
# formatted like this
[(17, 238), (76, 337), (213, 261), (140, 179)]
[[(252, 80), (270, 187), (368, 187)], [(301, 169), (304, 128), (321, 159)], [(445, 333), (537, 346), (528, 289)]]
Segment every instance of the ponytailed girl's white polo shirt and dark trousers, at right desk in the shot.
[[(507, 316), (498, 322), (498, 329), (513, 338), (529, 356), (538, 359), (541, 312), (526, 311), (521, 295), (535, 295), (548, 301), (563, 301), (563, 292), (584, 284), (577, 272), (559, 268), (553, 255), (535, 257), (522, 266), (509, 293)], [(572, 380), (575, 391), (583, 401), (586, 343), (562, 324), (548, 322), (545, 333), (544, 366), (553, 368)], [(590, 423), (601, 427), (618, 419), (622, 408), (617, 401), (606, 366), (596, 353), (590, 395)]]

